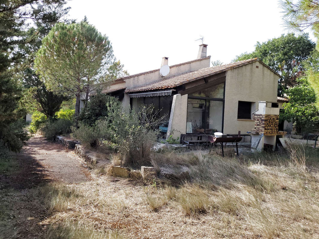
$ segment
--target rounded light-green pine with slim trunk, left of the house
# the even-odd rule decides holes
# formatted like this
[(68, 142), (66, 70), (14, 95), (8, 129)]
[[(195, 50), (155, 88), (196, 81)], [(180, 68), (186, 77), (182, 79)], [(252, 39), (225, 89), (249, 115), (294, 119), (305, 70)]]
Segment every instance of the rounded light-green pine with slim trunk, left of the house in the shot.
[(35, 68), (51, 91), (76, 96), (75, 114), (78, 115), (80, 95), (87, 96), (108, 82), (114, 63), (108, 37), (85, 20), (56, 24), (42, 40)]

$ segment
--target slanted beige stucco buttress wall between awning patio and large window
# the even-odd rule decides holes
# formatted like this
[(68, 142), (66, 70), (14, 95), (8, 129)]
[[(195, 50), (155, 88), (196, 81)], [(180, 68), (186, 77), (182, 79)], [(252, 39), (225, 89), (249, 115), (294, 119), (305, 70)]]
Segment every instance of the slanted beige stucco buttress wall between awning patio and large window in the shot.
[(188, 95), (176, 94), (173, 97), (171, 114), (169, 117), (167, 139), (170, 135), (174, 139), (186, 134), (186, 117), (187, 117), (187, 98)]

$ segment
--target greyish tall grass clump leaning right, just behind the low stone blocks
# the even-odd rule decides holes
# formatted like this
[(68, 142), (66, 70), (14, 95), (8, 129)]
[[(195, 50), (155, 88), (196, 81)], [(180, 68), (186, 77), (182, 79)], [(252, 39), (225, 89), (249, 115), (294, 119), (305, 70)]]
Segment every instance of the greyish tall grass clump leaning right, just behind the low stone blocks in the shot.
[(186, 154), (174, 152), (154, 154), (152, 164), (159, 170), (162, 169), (175, 175), (187, 170), (192, 183), (205, 187), (233, 188), (241, 184), (259, 191), (270, 192), (273, 189), (273, 185), (257, 177), (237, 158), (223, 158), (216, 154), (204, 153), (201, 150)]

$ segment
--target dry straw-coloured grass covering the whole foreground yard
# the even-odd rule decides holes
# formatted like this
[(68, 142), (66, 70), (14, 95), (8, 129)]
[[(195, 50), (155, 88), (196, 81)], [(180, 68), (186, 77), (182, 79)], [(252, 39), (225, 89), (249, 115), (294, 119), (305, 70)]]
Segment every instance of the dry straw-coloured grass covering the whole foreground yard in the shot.
[[(255, 154), (246, 163), (200, 151), (167, 151), (152, 160), (158, 169), (189, 172), (190, 179), (177, 187), (159, 181), (145, 187), (100, 175), (78, 185), (47, 185), (34, 194), (50, 212), (41, 221), (49, 225), (47, 239), (316, 239), (318, 152), (298, 150)], [(120, 157), (109, 161), (118, 165)], [(107, 167), (100, 171), (107, 172)], [(0, 206), (0, 212), (6, 210)]]

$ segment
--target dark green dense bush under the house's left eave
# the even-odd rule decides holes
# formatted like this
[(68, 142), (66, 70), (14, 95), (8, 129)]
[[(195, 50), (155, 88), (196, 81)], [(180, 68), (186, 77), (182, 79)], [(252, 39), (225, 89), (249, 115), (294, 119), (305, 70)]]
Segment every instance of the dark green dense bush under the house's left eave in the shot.
[(93, 126), (95, 121), (105, 119), (108, 116), (107, 103), (113, 99), (114, 97), (102, 93), (91, 97), (87, 105), (81, 109), (78, 122)]

